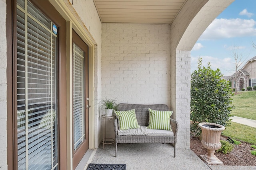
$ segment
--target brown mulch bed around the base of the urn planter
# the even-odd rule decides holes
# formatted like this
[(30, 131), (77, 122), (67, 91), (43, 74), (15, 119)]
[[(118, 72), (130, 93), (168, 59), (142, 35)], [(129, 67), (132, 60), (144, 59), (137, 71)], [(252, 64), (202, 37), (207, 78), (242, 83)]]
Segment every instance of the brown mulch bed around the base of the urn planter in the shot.
[[(221, 140), (226, 141), (226, 137), (221, 137)], [(206, 154), (205, 149), (201, 141), (196, 137), (190, 137), (190, 149), (200, 158), (200, 155)], [(251, 147), (251, 144), (241, 143), (235, 145), (234, 149), (224, 154), (222, 152), (216, 152), (215, 155), (224, 163), (224, 165), (232, 166), (256, 166), (256, 156), (251, 154), (251, 150), (255, 150)]]

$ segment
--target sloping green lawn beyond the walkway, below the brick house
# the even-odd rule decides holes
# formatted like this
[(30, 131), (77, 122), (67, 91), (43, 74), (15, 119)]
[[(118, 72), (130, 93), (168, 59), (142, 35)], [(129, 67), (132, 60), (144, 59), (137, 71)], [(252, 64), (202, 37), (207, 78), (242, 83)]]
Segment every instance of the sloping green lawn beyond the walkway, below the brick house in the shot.
[(231, 115), (256, 120), (256, 91), (238, 92), (231, 98), (232, 105), (235, 106)]

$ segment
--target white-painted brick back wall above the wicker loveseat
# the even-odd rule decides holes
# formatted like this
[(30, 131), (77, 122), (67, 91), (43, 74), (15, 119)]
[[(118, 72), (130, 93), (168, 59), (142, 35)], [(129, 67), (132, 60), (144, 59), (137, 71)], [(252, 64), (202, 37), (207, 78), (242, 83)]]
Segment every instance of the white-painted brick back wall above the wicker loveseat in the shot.
[(102, 24), (102, 97), (170, 106), (170, 25)]

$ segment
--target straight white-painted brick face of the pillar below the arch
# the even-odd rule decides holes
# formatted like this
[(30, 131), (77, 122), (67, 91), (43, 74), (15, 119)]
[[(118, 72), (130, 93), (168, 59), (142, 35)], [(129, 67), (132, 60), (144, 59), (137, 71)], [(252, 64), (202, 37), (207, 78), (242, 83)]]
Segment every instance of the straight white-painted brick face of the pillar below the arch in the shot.
[[(190, 148), (190, 51), (176, 51), (177, 147)], [(174, 100), (174, 99), (172, 99)]]

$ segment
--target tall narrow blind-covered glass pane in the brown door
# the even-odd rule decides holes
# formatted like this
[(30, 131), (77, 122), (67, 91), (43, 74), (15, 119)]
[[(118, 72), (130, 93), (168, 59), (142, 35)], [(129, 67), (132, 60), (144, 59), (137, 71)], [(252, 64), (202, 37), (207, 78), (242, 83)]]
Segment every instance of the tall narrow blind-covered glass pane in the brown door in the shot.
[(85, 52), (73, 43), (73, 136), (74, 151), (85, 140), (85, 110), (84, 110), (84, 57)]

